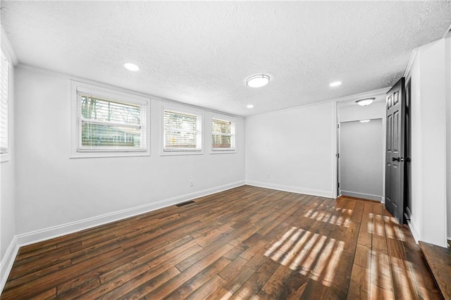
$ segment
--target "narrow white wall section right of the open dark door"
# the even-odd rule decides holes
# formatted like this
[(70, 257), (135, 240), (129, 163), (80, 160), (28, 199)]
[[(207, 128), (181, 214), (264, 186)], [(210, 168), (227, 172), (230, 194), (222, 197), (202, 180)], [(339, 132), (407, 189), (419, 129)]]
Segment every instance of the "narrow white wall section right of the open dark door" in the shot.
[[(446, 246), (446, 76), (445, 39), (416, 49), (412, 77), (412, 216), (418, 240)], [(449, 99), (448, 99), (449, 101)], [(448, 156), (449, 157), (449, 156)]]

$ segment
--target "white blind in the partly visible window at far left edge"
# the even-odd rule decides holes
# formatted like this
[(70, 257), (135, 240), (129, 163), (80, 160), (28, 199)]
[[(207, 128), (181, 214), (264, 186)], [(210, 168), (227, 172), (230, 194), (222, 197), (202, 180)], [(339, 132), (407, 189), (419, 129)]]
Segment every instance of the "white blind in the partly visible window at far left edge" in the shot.
[(0, 153), (8, 153), (8, 75), (9, 62), (3, 51), (0, 57)]

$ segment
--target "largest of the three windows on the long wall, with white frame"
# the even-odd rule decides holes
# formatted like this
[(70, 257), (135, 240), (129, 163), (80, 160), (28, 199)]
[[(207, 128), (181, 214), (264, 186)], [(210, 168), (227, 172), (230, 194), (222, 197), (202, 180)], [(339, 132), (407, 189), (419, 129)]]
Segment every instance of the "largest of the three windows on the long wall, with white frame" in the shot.
[(77, 123), (75, 156), (149, 154), (149, 99), (78, 82), (74, 85)]

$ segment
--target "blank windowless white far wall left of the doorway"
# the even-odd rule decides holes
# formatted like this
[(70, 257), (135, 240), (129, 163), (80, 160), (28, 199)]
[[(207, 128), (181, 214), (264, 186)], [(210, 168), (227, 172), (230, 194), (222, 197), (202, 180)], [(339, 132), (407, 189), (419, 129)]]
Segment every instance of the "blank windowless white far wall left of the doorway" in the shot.
[(247, 184), (335, 197), (335, 109), (330, 101), (246, 118)]

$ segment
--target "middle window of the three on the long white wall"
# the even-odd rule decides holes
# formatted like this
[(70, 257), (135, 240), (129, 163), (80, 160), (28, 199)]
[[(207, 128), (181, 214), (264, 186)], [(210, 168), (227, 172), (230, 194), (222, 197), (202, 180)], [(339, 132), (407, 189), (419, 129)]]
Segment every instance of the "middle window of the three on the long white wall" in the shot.
[(163, 108), (163, 152), (202, 152), (202, 113)]

